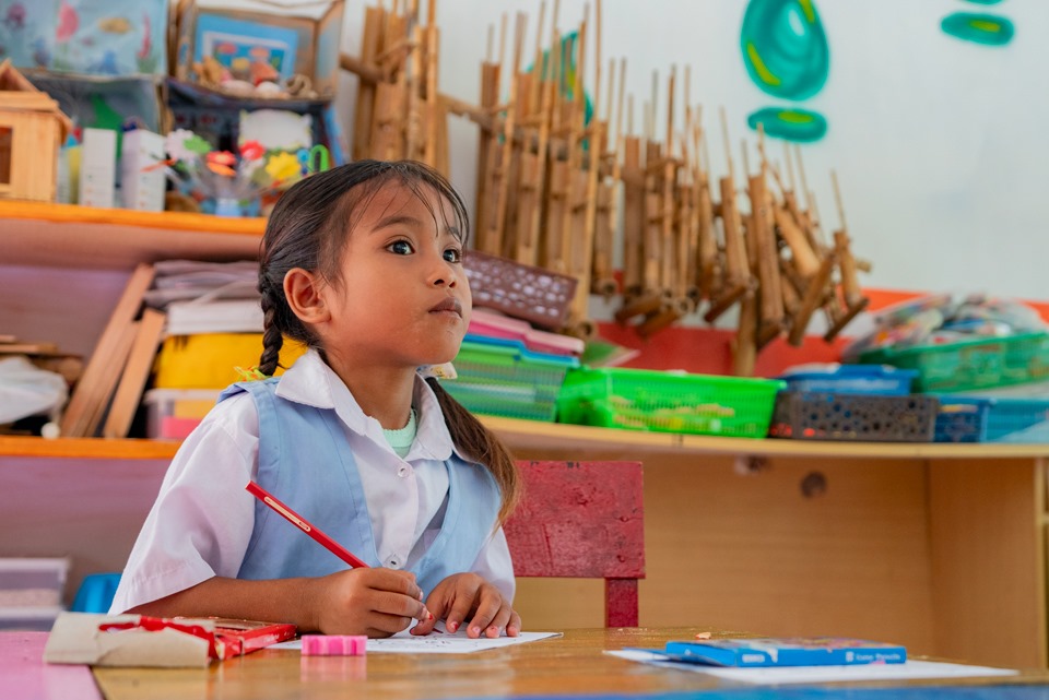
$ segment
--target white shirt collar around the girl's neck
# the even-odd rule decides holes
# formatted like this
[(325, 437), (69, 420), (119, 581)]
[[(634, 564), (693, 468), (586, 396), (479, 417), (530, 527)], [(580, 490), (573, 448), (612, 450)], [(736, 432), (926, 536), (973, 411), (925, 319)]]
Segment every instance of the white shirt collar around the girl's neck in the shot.
[[(339, 376), (328, 367), (320, 353), (310, 348), (281, 375), (276, 395), (316, 408), (333, 410), (339, 419), (357, 435), (387, 444), (379, 422), (365, 415), (353, 394)], [(419, 430), (408, 460), (447, 460), (455, 452), (462, 458), (451, 440), (440, 404), (429, 384), (416, 375), (414, 388)]]

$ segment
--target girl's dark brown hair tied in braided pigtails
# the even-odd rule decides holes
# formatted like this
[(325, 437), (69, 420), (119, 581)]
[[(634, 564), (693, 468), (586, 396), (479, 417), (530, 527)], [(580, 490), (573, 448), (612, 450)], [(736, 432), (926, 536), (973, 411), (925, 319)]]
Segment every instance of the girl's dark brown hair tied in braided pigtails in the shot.
[[(448, 180), (433, 168), (414, 161), (357, 161), (311, 175), (290, 188), (266, 225), (259, 251), (259, 292), (264, 316), (262, 356), (259, 371), (270, 376), (279, 366), (284, 337), (320, 346), (319, 340), (292, 311), (284, 296), (284, 275), (294, 268), (319, 272), (338, 282), (339, 260), (364, 206), (385, 185), (397, 182), (420, 197), (423, 188), (447, 200), (456, 229), (465, 244), (470, 221), (462, 198)], [(436, 212), (435, 216), (438, 215)], [(445, 423), (456, 446), (470, 459), (484, 464), (502, 494), (499, 523), (514, 510), (520, 486), (514, 459), (503, 442), (436, 379), (426, 382), (437, 395)]]

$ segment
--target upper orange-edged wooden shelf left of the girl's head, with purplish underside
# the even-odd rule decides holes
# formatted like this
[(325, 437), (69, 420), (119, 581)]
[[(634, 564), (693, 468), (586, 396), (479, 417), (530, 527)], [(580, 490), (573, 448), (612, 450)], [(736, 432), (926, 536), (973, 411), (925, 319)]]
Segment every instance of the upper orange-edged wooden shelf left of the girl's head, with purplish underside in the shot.
[(5, 265), (130, 270), (169, 259), (254, 260), (263, 218), (0, 200)]

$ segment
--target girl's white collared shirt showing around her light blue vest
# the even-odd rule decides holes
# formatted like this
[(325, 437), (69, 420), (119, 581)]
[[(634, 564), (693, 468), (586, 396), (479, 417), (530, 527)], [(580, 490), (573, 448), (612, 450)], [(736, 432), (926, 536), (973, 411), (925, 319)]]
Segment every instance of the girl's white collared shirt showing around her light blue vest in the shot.
[[(455, 449), (433, 390), (416, 378), (417, 434), (403, 460), (379, 422), (364, 414), (315, 351), (284, 372), (276, 394), (334, 408), (361, 473), (379, 560), (396, 569), (413, 566), (444, 521), (448, 495), (444, 462)], [(236, 578), (255, 525), (255, 497), (245, 486), (258, 472), (258, 414), (247, 393), (216, 405), (186, 438), (134, 543), (110, 613), (215, 576)], [(502, 527), (470, 570), (512, 600), (514, 569)]]

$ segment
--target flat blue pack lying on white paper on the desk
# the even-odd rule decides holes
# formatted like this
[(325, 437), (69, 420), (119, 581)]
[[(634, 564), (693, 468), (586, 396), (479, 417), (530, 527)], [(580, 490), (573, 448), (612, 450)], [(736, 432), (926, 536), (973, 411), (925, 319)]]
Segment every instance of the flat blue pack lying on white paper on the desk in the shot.
[(667, 642), (663, 653), (673, 661), (715, 666), (841, 666), (907, 661), (907, 650), (898, 644), (836, 637)]

